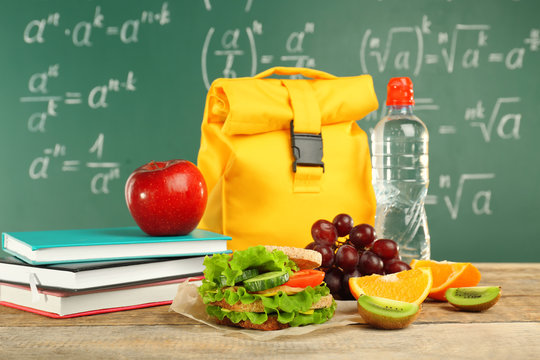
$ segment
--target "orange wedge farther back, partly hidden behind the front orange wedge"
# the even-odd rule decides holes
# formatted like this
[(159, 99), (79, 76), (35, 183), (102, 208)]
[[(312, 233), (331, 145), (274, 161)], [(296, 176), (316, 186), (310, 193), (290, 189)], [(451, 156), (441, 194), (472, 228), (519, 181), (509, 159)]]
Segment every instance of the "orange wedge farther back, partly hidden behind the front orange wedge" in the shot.
[(446, 301), (446, 290), (451, 287), (476, 286), (480, 282), (480, 271), (471, 263), (451, 261), (413, 260), (411, 268), (430, 268), (433, 286), (429, 297)]

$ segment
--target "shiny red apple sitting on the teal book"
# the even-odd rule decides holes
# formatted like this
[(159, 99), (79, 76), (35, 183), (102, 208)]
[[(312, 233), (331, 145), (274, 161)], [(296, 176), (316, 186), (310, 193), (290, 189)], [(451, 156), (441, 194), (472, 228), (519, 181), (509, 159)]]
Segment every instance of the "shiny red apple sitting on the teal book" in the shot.
[(187, 160), (152, 161), (141, 166), (127, 179), (125, 195), (131, 216), (151, 236), (193, 231), (208, 197), (203, 175)]

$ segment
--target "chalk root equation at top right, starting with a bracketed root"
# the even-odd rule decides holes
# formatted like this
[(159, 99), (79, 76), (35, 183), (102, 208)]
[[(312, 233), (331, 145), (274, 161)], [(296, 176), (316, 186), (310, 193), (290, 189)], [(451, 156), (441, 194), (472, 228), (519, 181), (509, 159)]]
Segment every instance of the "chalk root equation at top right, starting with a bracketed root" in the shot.
[[(437, 49), (425, 46), (430, 40), (432, 22), (424, 15), (419, 26), (392, 27), (386, 37), (374, 34), (367, 29), (362, 37), (360, 46), (360, 65), (365, 73), (377, 71), (382, 73), (389, 67), (394, 70), (411, 71), (419, 75), (425, 66), (443, 64), (450, 74), (459, 66), (461, 69), (476, 69), (482, 64), (501, 63), (507, 70), (516, 70), (523, 67), (526, 48), (515, 47), (506, 52), (489, 52), (488, 33), (491, 26), (488, 24), (456, 24), (451, 31), (440, 31), (436, 34)], [(416, 45), (411, 49), (410, 41)], [(540, 32), (532, 29), (528, 38), (523, 42), (529, 46), (530, 51), (537, 51), (540, 46)]]

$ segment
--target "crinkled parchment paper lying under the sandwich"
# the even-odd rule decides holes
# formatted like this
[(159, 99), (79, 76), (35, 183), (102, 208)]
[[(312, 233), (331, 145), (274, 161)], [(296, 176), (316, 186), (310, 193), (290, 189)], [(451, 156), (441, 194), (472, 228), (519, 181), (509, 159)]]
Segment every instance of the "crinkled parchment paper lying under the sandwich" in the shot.
[(255, 340), (271, 340), (279, 336), (303, 335), (321, 329), (364, 323), (362, 317), (357, 312), (356, 301), (336, 301), (337, 309), (334, 317), (324, 324), (290, 327), (274, 331), (251, 330), (218, 325), (206, 313), (206, 305), (202, 302), (197, 288), (197, 285), (189, 282), (180, 284), (169, 311), (175, 311), (224, 333), (244, 334)]

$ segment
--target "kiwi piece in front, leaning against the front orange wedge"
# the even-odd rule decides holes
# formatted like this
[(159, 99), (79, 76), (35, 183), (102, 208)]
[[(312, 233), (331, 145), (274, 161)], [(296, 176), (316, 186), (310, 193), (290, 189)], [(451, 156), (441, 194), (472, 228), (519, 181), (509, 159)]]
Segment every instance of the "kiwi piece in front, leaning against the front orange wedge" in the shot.
[(358, 313), (365, 322), (379, 329), (402, 329), (420, 314), (420, 306), (404, 301), (361, 295)]

